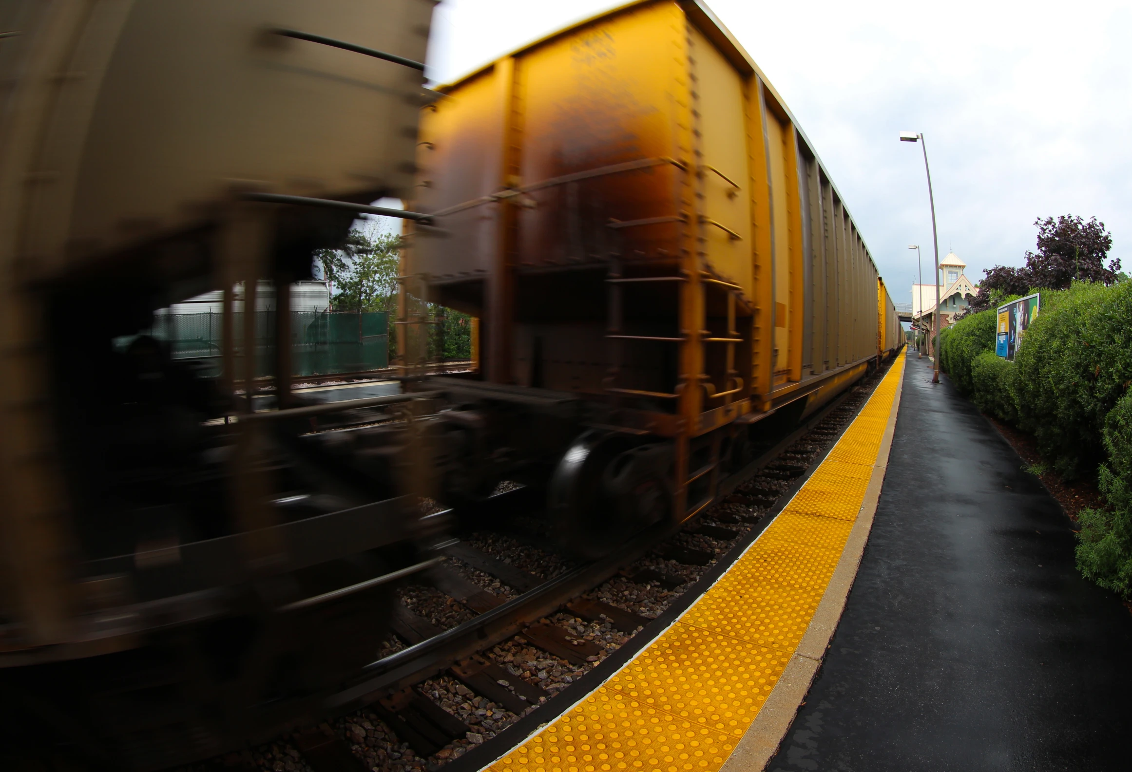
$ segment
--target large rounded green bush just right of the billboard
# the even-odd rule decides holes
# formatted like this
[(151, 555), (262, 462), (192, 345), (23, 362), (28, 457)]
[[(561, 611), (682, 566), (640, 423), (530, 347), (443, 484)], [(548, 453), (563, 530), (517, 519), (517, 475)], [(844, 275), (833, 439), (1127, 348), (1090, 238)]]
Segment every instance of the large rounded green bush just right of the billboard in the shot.
[(1132, 383), (1132, 283), (1044, 292), (1015, 357), (1021, 428), (1065, 479), (1104, 458), (1105, 417)]

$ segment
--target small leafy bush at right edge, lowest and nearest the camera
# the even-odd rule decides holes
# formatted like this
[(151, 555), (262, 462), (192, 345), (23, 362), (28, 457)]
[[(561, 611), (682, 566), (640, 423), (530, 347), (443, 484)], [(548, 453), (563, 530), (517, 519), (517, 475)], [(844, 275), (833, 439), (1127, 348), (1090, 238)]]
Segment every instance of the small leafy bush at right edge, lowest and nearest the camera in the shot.
[(1100, 492), (1113, 508), (1079, 514), (1077, 566), (1100, 586), (1132, 599), (1132, 393), (1109, 411), (1104, 444), (1108, 463), (1100, 468)]

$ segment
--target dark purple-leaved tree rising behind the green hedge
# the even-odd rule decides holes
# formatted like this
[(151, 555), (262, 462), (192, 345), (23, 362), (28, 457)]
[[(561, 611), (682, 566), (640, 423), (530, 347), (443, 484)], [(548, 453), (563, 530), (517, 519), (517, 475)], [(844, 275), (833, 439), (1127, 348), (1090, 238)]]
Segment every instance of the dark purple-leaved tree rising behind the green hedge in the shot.
[(970, 312), (996, 307), (1009, 295), (1024, 295), (1031, 290), (1065, 290), (1074, 281), (1115, 284), (1121, 269), (1118, 258), (1108, 258), (1113, 237), (1105, 224), (1080, 215), (1060, 215), (1057, 220), (1038, 217), (1038, 251), (1026, 252), (1026, 267), (996, 265), (983, 273), (979, 293), (971, 301)]

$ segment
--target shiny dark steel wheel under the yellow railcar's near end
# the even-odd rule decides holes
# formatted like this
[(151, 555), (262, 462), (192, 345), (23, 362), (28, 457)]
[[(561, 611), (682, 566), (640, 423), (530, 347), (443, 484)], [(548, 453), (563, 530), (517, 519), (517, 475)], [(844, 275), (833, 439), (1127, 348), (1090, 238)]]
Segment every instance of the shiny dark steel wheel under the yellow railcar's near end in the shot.
[(667, 444), (599, 431), (580, 436), (550, 480), (549, 511), (559, 542), (592, 559), (671, 516), (671, 463)]

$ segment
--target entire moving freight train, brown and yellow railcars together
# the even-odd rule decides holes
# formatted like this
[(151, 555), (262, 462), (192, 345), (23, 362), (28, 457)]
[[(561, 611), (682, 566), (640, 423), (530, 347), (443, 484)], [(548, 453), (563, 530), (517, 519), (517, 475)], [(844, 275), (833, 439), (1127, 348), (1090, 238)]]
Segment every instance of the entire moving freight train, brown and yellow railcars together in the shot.
[[(0, 726), (155, 770), (310, 723), (436, 560), (452, 518), (422, 497), (474, 523), (518, 482), (563, 549), (616, 549), (901, 345), (704, 6), (631, 3), (429, 91), (432, 6), (0, 7)], [(278, 288), (386, 196), (403, 392), (307, 404)], [(237, 310), (263, 282), (266, 350)], [(208, 291), (218, 377), (154, 333)], [(474, 372), (423, 375), (427, 303), (478, 319)], [(368, 426), (320, 431), (343, 406)]]

